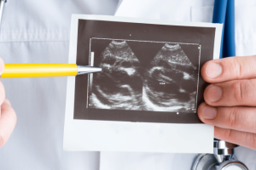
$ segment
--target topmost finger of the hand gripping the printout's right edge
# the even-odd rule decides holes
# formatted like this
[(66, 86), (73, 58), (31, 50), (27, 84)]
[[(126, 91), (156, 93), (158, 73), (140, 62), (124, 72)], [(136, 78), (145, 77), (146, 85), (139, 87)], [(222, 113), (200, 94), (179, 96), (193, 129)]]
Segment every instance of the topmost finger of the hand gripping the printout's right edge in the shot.
[(210, 60), (202, 66), (201, 76), (211, 83), (256, 78), (256, 55)]

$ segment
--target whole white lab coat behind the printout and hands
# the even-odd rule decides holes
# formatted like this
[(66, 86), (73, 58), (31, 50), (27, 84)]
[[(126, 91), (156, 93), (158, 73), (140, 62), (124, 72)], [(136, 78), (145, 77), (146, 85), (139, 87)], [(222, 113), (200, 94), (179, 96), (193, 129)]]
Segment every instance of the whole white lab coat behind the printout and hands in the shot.
[[(67, 63), (71, 14), (211, 22), (213, 0), (9, 0), (0, 32), (6, 63)], [(256, 54), (256, 1), (236, 0), (236, 54)], [(1, 80), (18, 116), (0, 150), (2, 170), (190, 169), (196, 154), (64, 152), (66, 77)], [(256, 169), (256, 151), (236, 149)]]

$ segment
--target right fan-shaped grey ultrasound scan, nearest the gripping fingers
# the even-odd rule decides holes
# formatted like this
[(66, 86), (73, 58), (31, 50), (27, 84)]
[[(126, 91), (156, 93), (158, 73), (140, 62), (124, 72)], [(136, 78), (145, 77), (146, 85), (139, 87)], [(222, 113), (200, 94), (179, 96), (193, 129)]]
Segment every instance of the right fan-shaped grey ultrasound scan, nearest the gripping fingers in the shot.
[(143, 110), (184, 112), (195, 109), (197, 73), (178, 44), (166, 43), (145, 73)]

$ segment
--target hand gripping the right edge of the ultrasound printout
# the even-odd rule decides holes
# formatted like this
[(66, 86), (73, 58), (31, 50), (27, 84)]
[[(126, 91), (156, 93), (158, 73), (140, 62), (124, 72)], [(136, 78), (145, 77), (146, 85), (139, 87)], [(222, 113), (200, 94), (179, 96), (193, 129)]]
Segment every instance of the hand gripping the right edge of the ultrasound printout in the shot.
[(256, 150), (256, 56), (208, 61), (201, 75), (212, 83), (198, 109), (202, 122), (214, 125), (217, 139)]

